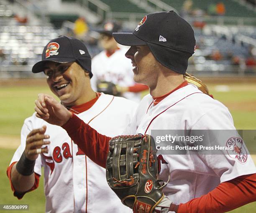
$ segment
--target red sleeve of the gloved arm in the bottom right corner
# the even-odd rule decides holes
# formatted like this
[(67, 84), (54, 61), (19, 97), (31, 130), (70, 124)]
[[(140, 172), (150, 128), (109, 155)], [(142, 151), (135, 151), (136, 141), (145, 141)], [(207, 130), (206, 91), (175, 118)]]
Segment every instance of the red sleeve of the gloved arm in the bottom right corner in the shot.
[(178, 213), (223, 213), (256, 201), (256, 174), (220, 183), (214, 190), (181, 203)]

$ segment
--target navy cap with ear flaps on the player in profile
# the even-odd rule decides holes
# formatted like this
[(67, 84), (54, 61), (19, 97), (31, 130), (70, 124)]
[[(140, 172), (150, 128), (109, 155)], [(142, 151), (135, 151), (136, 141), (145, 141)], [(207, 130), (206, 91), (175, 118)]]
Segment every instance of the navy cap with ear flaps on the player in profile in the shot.
[(195, 35), (191, 25), (173, 10), (150, 13), (133, 33), (113, 33), (121, 45), (148, 45), (152, 54), (165, 67), (186, 73), (188, 59), (195, 53)]

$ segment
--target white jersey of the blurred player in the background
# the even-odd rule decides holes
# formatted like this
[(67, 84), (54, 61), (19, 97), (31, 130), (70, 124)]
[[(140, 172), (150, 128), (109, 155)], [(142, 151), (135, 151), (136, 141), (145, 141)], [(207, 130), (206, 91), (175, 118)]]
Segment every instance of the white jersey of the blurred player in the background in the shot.
[[(100, 52), (92, 58), (92, 89), (97, 90), (97, 80), (109, 81), (121, 87), (129, 87), (135, 84), (133, 80), (133, 70), (131, 60), (125, 57), (127, 49), (116, 50), (108, 57), (106, 51)], [(129, 100), (140, 102), (140, 93), (123, 93)]]

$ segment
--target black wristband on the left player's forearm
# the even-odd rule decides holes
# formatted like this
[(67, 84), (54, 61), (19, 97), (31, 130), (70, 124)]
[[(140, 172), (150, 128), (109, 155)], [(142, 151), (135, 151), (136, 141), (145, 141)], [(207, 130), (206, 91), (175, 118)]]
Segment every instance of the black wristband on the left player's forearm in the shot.
[(16, 169), (21, 175), (29, 176), (34, 173), (35, 163), (36, 160), (29, 160), (26, 158), (24, 151), (20, 157), (20, 160), (16, 164)]

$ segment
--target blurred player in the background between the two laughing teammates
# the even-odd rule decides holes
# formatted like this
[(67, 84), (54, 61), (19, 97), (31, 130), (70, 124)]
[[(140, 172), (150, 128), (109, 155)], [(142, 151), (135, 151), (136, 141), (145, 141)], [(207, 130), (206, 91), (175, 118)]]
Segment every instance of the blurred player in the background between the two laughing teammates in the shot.
[(140, 92), (148, 90), (148, 87), (134, 82), (131, 61), (124, 57), (127, 49), (120, 48), (112, 36), (118, 30), (120, 25), (115, 22), (106, 22), (100, 30), (99, 41), (104, 50), (92, 59), (92, 88), (96, 90), (102, 81), (111, 82), (123, 97), (140, 102)]

